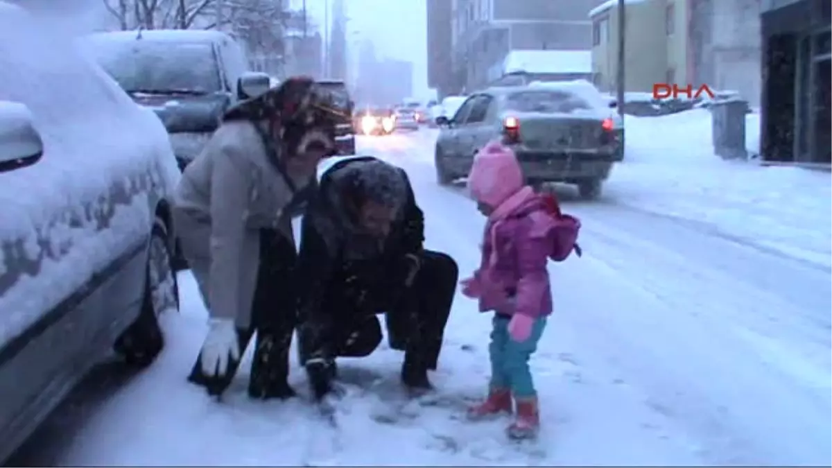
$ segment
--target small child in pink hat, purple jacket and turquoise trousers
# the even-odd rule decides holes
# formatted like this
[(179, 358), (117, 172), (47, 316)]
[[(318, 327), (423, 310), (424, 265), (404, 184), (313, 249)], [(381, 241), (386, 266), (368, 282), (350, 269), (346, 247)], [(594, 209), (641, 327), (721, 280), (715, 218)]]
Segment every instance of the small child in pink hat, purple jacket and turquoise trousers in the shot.
[(551, 195), (523, 185), (514, 152), (498, 142), (478, 152), (468, 187), (488, 222), (482, 261), (472, 277), (461, 281), (463, 294), (478, 299), (480, 311), (495, 312), (488, 399), (470, 408), (468, 416), (511, 413), (514, 401), (517, 417), (508, 435), (533, 437), (540, 418), (528, 360), (552, 313), (547, 259), (561, 261), (578, 249), (580, 222), (562, 215)]

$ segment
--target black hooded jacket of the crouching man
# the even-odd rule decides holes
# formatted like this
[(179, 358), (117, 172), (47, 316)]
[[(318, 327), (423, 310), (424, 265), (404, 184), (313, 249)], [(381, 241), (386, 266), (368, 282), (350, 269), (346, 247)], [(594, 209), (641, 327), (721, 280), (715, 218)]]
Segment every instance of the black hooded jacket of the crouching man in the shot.
[[(354, 222), (350, 200), (373, 184), (376, 194), (399, 207), (389, 236), (375, 241)], [(297, 270), (301, 359), (331, 357), (339, 330), (387, 311), (406, 291), (423, 249), (424, 217), (406, 172), (374, 157), (337, 162), (324, 172), (307, 206)]]

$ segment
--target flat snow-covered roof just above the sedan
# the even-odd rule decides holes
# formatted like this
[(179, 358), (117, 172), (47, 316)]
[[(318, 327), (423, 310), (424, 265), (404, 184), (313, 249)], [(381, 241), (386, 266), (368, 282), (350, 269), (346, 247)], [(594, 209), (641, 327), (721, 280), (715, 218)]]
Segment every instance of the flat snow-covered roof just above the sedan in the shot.
[(515, 50), (503, 60), (503, 73), (591, 73), (592, 52)]

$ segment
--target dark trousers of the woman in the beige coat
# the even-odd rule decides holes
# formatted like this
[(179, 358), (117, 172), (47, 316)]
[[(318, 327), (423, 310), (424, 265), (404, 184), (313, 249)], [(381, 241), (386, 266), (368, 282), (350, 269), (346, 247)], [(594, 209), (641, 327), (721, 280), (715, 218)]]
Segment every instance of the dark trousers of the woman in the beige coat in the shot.
[[(292, 283), (296, 261), (295, 246), (285, 235), (269, 229), (260, 231), (260, 267), (251, 305), (251, 326), (237, 330), (241, 353), (256, 333), (249, 380), (249, 395), (255, 398), (294, 395), (286, 380), (289, 348), (297, 324)], [(202, 372), (201, 356), (197, 356), (188, 380), (205, 386), (210, 395), (218, 396), (230, 386), (239, 366), (240, 361), (231, 361), (224, 376), (206, 376)]]

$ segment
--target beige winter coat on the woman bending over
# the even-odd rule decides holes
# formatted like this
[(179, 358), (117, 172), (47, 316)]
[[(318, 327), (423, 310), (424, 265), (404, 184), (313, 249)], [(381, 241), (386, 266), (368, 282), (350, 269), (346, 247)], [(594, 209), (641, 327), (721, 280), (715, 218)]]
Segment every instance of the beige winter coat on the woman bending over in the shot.
[[(293, 181), (300, 189), (304, 182)], [(174, 221), (212, 318), (250, 326), (260, 229), (277, 228), (294, 243), (290, 217), (281, 217), (292, 192), (270, 163), (254, 124), (225, 122), (176, 189)]]

